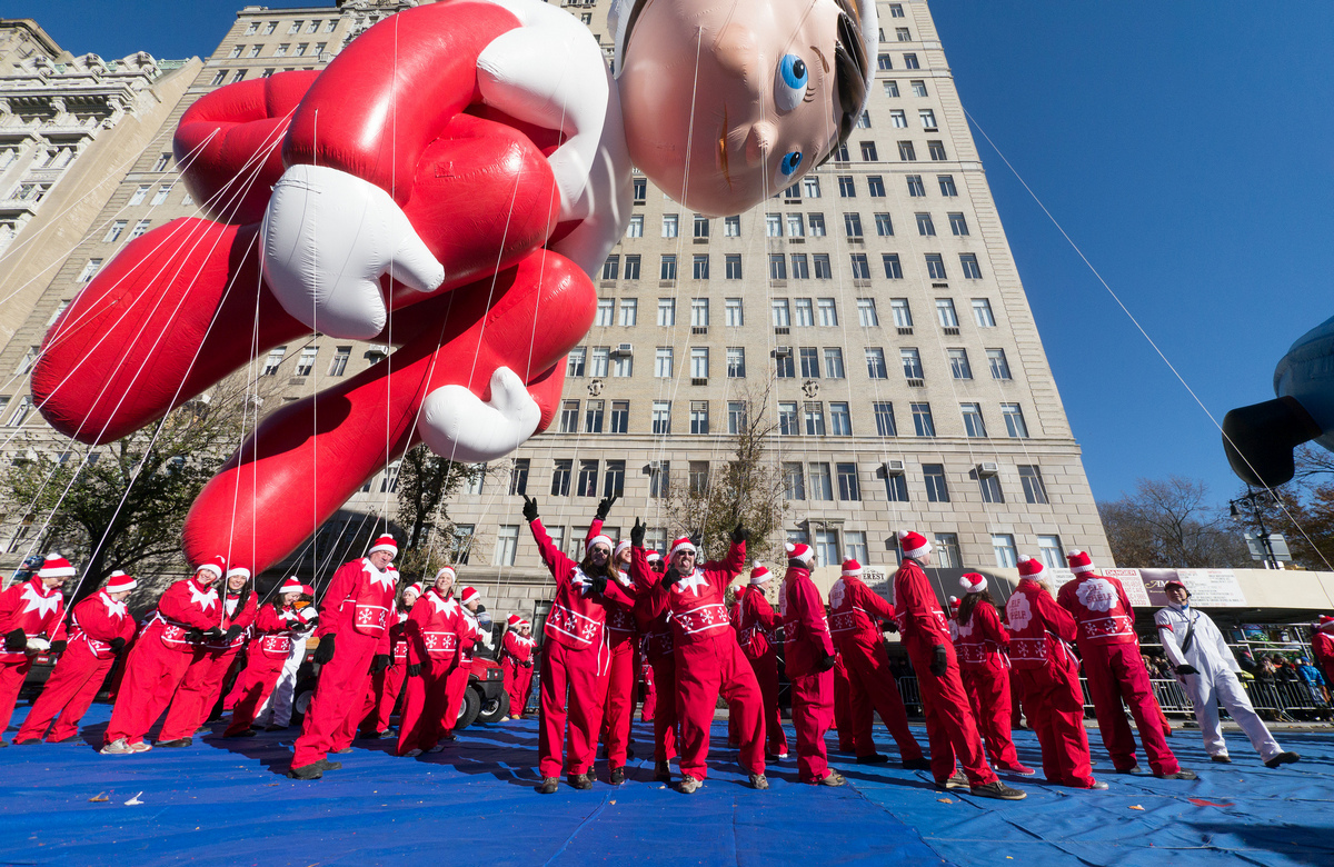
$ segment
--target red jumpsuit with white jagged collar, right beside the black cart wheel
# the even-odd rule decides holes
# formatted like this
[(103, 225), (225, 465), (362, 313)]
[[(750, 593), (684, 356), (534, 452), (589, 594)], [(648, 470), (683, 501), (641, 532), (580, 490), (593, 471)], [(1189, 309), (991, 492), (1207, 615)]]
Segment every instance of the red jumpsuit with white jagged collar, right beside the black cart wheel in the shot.
[(435, 587), (412, 606), (403, 623), (403, 636), (407, 664), (422, 666), (422, 674), (408, 676), (403, 687), (399, 755), (412, 750), (424, 752), (440, 740), (450, 708), (450, 675), (460, 667), (463, 642), (472, 638), (463, 619), (463, 606), (454, 594), (442, 596)]

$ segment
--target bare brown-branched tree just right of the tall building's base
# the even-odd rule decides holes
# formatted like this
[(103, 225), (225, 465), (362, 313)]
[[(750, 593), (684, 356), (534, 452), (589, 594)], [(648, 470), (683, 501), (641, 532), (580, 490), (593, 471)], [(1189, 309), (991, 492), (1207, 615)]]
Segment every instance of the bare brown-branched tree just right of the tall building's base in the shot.
[(1126, 567), (1247, 567), (1241, 530), (1203, 482), (1139, 479), (1135, 494), (1098, 503), (1113, 558)]

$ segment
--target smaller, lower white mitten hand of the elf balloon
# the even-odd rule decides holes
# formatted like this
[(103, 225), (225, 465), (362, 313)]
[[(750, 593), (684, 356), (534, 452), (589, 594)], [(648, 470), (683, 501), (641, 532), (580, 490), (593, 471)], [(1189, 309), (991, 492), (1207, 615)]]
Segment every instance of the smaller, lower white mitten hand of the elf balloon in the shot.
[(508, 367), (491, 375), (491, 403), (463, 385), (436, 388), (422, 401), (420, 431), (442, 458), (482, 463), (519, 448), (538, 429), (542, 408)]

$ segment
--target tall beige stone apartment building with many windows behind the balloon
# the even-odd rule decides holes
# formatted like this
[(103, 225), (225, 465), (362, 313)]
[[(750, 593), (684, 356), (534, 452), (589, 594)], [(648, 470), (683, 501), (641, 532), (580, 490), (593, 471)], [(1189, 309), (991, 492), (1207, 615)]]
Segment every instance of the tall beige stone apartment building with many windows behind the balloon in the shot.
[[(0, 365), (21, 365), (88, 263), (140, 227), (196, 212), (169, 159), (193, 99), (319, 68), (406, 5), (243, 8), (99, 216), (121, 233), (72, 245)], [(607, 0), (563, 5), (610, 56)], [(1082, 548), (1111, 563), (930, 9), (903, 0), (879, 3), (879, 15), (870, 105), (847, 147), (800, 184), (707, 219), (635, 179), (630, 231), (595, 275), (596, 321), (568, 359), (556, 421), (456, 498), (456, 538), (432, 540), (466, 560), (466, 582), (490, 586), (490, 607), (542, 614), (550, 592), (520, 494), (538, 498), (571, 555), (612, 491), (622, 492), (612, 530), (628, 534), (643, 516), (663, 544), (680, 530), (664, 526), (670, 488), (708, 490), (740, 416), (754, 412), (774, 425), (767, 460), (786, 479), (786, 534), (812, 543), (823, 563), (855, 556), (891, 571), (899, 528), (936, 542), (942, 590), (964, 567), (1005, 572), (1018, 554), (1057, 566)], [(386, 351), (316, 336), (275, 349), (261, 368), (295, 400)], [(17, 405), (23, 388), (11, 383), (5, 396)], [(17, 416), (11, 407), (0, 421)], [(391, 466), (313, 550), (392, 515), (395, 488)], [(308, 552), (283, 567), (323, 571)]]

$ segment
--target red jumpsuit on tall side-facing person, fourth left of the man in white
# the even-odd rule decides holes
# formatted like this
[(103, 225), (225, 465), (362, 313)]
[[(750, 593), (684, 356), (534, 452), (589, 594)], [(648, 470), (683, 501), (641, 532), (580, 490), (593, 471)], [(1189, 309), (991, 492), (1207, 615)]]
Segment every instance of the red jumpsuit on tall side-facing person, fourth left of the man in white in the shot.
[[(944, 612), (936, 600), (922, 566), (904, 558), (894, 574), (894, 607), (903, 647), (912, 662), (926, 712), (926, 735), (931, 744), (931, 776), (944, 783), (962, 766), (974, 787), (994, 783), (995, 772), (982, 752), (982, 739), (972, 719), (968, 696), (959, 679), (959, 663), (950, 642)], [(944, 647), (943, 675), (931, 674), (936, 647)]]

